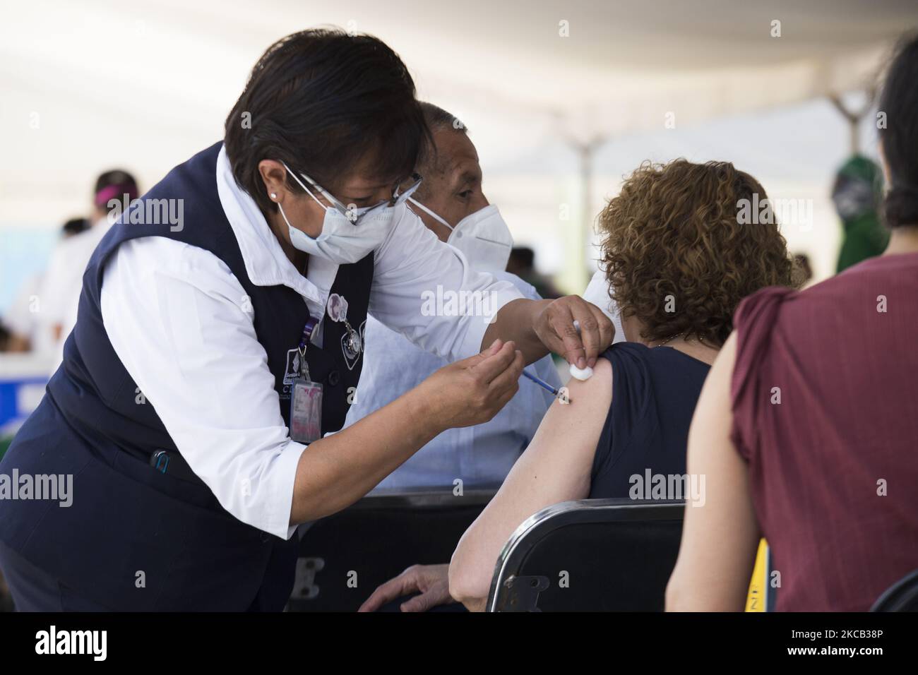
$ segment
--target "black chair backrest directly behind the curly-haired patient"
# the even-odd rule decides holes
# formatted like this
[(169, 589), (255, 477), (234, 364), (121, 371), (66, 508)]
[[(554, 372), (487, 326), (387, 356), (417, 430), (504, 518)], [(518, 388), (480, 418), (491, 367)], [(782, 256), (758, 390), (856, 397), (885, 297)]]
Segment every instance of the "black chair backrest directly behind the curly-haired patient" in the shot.
[(498, 557), (489, 612), (661, 612), (685, 502), (564, 501), (517, 528)]

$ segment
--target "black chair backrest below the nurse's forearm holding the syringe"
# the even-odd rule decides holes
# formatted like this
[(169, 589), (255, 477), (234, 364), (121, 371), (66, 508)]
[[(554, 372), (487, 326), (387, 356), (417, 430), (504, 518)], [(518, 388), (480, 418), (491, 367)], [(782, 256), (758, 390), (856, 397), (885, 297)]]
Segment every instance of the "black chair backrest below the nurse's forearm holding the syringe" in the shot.
[(414, 564), (447, 563), (496, 489), (374, 493), (303, 526), (291, 612), (353, 612)]

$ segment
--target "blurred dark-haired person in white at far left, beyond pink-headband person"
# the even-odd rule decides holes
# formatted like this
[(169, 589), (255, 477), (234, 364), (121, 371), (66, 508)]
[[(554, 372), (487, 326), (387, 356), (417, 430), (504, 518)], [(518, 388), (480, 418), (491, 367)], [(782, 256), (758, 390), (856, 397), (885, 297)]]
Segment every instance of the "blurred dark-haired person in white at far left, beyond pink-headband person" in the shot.
[[(87, 230), (90, 222), (85, 218), (73, 218), (61, 228), (62, 241), (66, 241), (80, 232)], [(59, 264), (59, 263), (55, 263)], [(30, 276), (19, 288), (16, 298), (0, 319), (0, 325), (6, 330), (6, 345), (0, 348), (3, 352), (33, 352), (51, 354), (55, 346), (56, 333), (48, 330), (41, 321), (41, 293), (47, 271)]]

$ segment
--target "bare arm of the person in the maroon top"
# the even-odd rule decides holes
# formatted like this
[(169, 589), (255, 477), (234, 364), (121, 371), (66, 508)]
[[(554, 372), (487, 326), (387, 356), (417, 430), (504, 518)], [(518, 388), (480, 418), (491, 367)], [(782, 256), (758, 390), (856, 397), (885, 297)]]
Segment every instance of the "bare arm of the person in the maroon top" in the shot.
[[(735, 333), (711, 367), (689, 430), (689, 475), (703, 501), (686, 506), (676, 568), (666, 589), (667, 611), (744, 608), (759, 533), (747, 466), (730, 439), (730, 382)], [(703, 483), (700, 481), (703, 478)]]

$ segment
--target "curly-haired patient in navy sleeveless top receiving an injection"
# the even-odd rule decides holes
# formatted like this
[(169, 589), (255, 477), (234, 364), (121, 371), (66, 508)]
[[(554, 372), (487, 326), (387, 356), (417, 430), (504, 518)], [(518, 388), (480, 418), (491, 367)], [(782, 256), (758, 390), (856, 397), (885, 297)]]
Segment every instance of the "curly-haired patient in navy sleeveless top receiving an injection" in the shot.
[[(731, 163), (644, 163), (599, 214), (601, 267), (627, 342), (602, 354), (568, 405), (546, 413), (497, 496), (463, 535), (452, 597), (484, 609), (495, 561), (529, 516), (559, 501), (660, 499), (652, 477), (686, 473), (701, 385), (757, 289), (792, 284), (792, 262), (765, 190)], [(765, 208), (748, 216), (749, 207)], [(755, 206), (753, 207), (755, 208)], [(668, 484), (668, 481), (667, 481)]]

